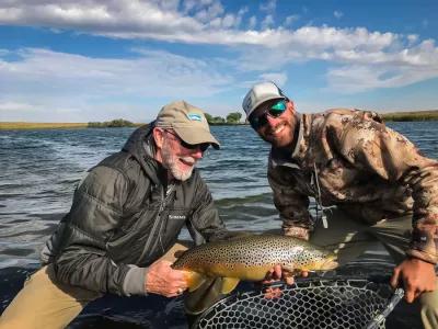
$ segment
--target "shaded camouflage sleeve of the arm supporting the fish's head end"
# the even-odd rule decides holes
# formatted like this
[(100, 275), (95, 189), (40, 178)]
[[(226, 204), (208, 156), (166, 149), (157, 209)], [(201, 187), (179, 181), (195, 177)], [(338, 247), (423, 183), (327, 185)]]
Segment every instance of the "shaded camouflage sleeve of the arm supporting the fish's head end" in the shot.
[(298, 193), (285, 169), (269, 166), (267, 178), (274, 192), (274, 204), (283, 219), (283, 231), (286, 236), (309, 239), (313, 229), (312, 216), (309, 213), (309, 197)]

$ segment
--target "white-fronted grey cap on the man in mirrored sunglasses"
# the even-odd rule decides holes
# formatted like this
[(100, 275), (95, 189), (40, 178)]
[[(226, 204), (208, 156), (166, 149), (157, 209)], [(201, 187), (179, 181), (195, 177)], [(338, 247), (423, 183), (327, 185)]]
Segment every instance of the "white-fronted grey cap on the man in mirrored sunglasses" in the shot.
[(253, 111), (264, 102), (286, 99), (287, 97), (283, 94), (281, 89), (279, 89), (274, 82), (261, 82), (254, 84), (246, 93), (242, 102), (242, 107), (246, 113), (246, 117), (250, 117), (251, 113), (253, 113)]

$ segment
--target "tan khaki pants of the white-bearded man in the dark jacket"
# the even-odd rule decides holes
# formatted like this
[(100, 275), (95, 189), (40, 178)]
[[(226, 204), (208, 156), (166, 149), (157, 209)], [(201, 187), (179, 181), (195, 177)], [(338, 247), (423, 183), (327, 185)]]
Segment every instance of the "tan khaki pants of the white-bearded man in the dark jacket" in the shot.
[[(161, 259), (173, 262), (176, 243)], [(88, 303), (103, 294), (56, 282), (47, 265), (31, 275), (0, 317), (0, 329), (58, 329), (70, 324)]]

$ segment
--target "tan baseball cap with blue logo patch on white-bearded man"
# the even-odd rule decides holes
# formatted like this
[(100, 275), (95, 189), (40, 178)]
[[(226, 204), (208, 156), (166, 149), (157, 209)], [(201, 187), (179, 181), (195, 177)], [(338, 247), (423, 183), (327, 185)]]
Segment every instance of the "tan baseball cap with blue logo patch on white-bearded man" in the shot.
[(210, 133), (204, 111), (185, 101), (164, 105), (157, 116), (155, 126), (173, 129), (181, 139), (191, 145), (208, 143), (216, 149), (220, 147)]

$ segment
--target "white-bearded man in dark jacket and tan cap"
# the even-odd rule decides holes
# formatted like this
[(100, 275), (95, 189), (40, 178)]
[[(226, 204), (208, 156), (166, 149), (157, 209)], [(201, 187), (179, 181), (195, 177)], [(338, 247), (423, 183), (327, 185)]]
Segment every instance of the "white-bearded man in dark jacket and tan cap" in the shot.
[(219, 148), (203, 111), (184, 101), (135, 131), (79, 184), (43, 250), (44, 266), (4, 310), (0, 328), (64, 328), (106, 293), (182, 294), (183, 272), (170, 266), (182, 227), (197, 243), (227, 235), (195, 169), (210, 145)]

